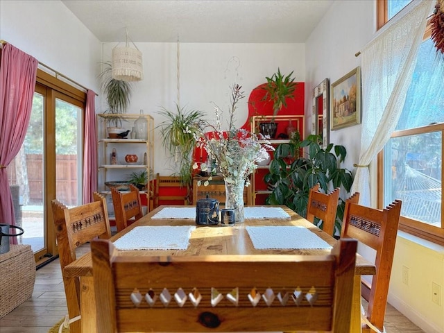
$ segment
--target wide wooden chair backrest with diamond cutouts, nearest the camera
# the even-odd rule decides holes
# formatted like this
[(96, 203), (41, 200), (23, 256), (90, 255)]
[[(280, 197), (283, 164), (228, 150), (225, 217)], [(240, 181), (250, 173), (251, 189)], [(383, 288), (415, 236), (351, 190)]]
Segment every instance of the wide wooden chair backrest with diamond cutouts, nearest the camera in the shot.
[(133, 257), (92, 241), (97, 332), (349, 332), (356, 248)]

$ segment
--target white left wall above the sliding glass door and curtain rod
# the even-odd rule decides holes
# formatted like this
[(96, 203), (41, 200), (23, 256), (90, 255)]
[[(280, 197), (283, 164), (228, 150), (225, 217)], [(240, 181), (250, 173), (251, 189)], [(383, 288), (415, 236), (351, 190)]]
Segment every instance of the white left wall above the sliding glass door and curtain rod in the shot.
[(61, 1), (1, 0), (0, 39), (99, 92), (101, 43)]

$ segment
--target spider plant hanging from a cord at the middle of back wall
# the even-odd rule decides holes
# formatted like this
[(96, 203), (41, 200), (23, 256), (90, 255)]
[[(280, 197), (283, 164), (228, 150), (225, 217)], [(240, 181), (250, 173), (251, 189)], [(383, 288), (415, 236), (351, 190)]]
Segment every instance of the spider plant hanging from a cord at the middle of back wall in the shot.
[(178, 164), (182, 184), (191, 187), (193, 180), (191, 165), (194, 162), (192, 153), (196, 145), (194, 133), (198, 130), (198, 122), (205, 113), (200, 110), (185, 110), (177, 104), (176, 112), (162, 107), (158, 113), (166, 118), (157, 126), (160, 128), (162, 145)]

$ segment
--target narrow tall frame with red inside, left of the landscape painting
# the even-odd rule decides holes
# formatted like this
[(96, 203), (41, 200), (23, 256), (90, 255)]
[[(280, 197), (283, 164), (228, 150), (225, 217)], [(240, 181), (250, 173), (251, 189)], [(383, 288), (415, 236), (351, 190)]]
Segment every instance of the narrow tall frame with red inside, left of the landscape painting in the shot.
[(321, 135), (322, 148), (329, 144), (330, 118), (330, 80), (325, 78), (313, 89), (311, 108), (311, 134)]

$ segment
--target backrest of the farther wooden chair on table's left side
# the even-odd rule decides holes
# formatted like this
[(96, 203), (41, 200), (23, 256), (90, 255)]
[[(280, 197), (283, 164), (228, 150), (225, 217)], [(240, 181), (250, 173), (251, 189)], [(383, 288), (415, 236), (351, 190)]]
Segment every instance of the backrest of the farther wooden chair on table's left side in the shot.
[(139, 189), (133, 184), (130, 184), (129, 192), (121, 192), (112, 188), (111, 196), (117, 232), (144, 216)]

